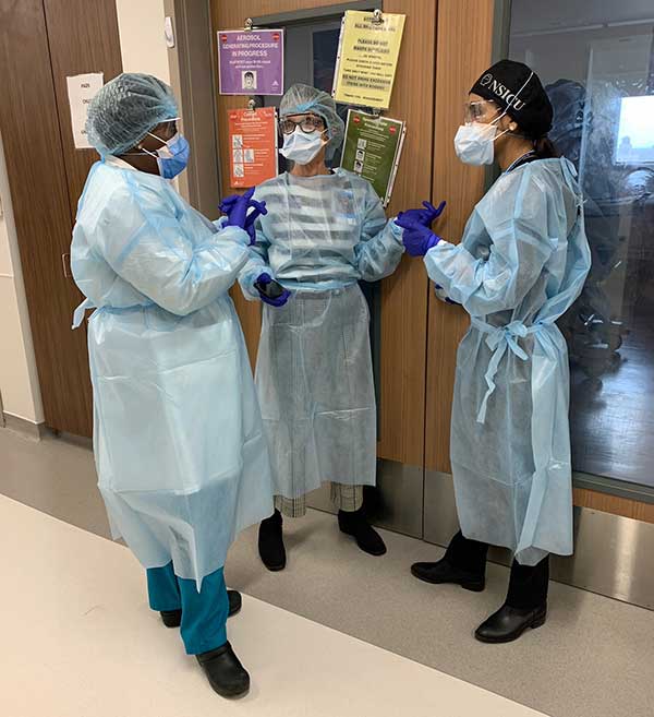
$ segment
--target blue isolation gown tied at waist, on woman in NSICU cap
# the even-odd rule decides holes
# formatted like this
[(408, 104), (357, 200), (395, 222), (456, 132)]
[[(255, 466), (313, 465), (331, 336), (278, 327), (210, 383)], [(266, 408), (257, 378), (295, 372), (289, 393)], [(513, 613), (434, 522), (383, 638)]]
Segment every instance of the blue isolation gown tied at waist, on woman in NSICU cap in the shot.
[(555, 321), (590, 263), (567, 159), (501, 175), (461, 243), (440, 241), (425, 256), (429, 277), (472, 318), (457, 355), (451, 423), (461, 528), (525, 565), (572, 552), (568, 351)]

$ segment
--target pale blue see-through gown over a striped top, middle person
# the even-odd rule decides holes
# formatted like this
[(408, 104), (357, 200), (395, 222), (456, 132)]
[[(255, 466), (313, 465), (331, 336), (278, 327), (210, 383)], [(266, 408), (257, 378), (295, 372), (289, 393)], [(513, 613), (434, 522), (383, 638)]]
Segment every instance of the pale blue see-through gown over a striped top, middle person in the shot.
[(359, 279), (391, 274), (402, 229), (366, 180), (283, 174), (257, 187), (268, 214), (240, 282), (267, 272), (293, 294), (264, 306), (256, 385), (270, 450), (274, 490), (299, 498), (325, 481), (374, 485), (376, 406), (370, 313)]

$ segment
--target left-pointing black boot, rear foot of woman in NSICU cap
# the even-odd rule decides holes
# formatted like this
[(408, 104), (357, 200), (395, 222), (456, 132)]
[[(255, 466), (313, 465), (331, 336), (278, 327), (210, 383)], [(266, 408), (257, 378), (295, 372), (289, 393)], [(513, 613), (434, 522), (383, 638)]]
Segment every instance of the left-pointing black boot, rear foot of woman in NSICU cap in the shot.
[(470, 540), (459, 531), (450, 540), (445, 555), (435, 563), (414, 563), (411, 573), (433, 585), (460, 585), (481, 593), (486, 587), (486, 554), (488, 546)]

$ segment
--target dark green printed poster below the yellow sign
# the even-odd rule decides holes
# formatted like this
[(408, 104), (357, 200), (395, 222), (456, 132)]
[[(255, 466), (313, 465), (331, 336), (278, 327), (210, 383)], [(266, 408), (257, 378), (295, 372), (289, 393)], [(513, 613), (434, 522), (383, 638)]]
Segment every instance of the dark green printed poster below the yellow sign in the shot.
[(341, 167), (367, 179), (384, 206), (390, 202), (405, 134), (400, 120), (348, 111)]

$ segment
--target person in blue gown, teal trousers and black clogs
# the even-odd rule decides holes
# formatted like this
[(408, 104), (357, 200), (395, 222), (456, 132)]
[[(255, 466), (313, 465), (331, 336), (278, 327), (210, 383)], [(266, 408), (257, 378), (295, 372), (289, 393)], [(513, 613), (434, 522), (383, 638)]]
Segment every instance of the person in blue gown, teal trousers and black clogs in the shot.
[[(147, 569), (150, 607), (181, 625), (223, 696), (250, 678), (227, 641), (241, 596), (222, 567), (235, 534), (272, 510), (269, 462), (228, 290), (247, 261), (252, 192), (217, 225), (171, 179), (189, 159), (166, 84), (121, 74), (93, 99), (101, 155), (77, 208), (71, 261), (87, 297), (94, 450), (114, 538)], [(247, 215), (249, 208), (251, 208)], [(253, 232), (252, 232), (253, 234)]]

